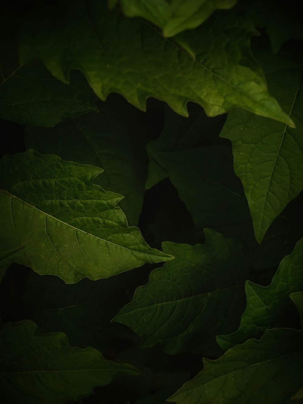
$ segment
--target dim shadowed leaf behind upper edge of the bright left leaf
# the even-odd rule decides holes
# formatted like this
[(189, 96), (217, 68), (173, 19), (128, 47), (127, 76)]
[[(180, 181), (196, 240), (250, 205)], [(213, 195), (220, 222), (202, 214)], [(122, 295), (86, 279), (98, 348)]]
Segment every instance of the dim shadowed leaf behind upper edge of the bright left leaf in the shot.
[(138, 225), (145, 193), (145, 143), (149, 140), (144, 114), (122, 97), (109, 97), (97, 106), (99, 114), (85, 114), (55, 128), (27, 128), (26, 146), (102, 168), (104, 173), (95, 184), (124, 195), (119, 206), (128, 223)]

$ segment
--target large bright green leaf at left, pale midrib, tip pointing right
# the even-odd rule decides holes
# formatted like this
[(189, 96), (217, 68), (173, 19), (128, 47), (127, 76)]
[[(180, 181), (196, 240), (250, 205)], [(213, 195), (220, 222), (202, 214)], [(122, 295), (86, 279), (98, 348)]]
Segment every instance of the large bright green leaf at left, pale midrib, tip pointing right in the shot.
[(100, 168), (33, 150), (4, 156), (1, 168), (1, 253), (20, 248), (11, 262), (75, 283), (171, 259), (127, 226), (120, 195), (92, 185)]

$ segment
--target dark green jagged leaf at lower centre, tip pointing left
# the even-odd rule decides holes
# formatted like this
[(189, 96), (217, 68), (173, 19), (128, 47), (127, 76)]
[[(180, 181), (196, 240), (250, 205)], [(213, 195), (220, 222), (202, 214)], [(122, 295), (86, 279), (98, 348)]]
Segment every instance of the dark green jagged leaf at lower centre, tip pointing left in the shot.
[(219, 330), (238, 324), (247, 273), (241, 246), (211, 229), (205, 235), (206, 244), (193, 247), (164, 242), (175, 259), (154, 269), (114, 318), (143, 338), (143, 348), (160, 342), (170, 354), (214, 354)]

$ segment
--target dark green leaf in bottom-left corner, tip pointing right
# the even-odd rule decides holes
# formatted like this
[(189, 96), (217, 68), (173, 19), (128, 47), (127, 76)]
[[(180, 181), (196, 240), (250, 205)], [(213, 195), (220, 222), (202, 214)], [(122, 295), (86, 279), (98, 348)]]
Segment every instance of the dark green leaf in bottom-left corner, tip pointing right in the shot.
[(89, 396), (119, 375), (137, 375), (128, 364), (104, 360), (99, 351), (71, 348), (63, 333), (42, 334), (32, 321), (0, 330), (0, 385), (4, 402), (66, 403)]

